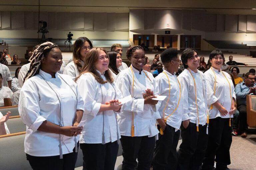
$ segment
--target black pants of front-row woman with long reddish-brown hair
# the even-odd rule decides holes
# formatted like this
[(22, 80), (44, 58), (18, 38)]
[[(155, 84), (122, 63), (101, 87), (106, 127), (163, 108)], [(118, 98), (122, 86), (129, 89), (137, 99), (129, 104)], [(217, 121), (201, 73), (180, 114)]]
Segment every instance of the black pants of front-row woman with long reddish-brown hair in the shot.
[(86, 170), (114, 170), (118, 152), (118, 143), (106, 144), (80, 143), (83, 151), (83, 169)]

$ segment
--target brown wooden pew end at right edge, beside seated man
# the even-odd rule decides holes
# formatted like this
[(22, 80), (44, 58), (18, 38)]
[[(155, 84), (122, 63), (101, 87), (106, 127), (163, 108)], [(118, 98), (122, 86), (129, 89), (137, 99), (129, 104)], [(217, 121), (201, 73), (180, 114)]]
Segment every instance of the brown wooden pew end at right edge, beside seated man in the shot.
[(250, 128), (256, 128), (256, 96), (246, 96), (247, 124)]

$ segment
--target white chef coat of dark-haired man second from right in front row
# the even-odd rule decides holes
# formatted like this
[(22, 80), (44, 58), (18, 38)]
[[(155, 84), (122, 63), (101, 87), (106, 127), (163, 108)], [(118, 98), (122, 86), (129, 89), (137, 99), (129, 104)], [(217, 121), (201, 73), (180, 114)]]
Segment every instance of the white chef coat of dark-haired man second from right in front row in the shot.
[[(188, 68), (189, 69), (189, 68)], [(183, 97), (183, 116), (182, 121), (189, 120), (192, 123), (196, 123), (197, 109), (195, 102), (195, 87), (194, 80), (196, 82), (197, 91), (197, 106), (199, 124), (205, 125), (207, 121), (208, 105), (215, 103), (218, 99), (213, 95), (212, 89), (208, 86), (205, 80), (203, 72), (197, 70), (197, 73), (192, 70), (190, 74), (189, 70), (185, 69), (179, 76), (178, 80), (182, 84), (182, 97)]]

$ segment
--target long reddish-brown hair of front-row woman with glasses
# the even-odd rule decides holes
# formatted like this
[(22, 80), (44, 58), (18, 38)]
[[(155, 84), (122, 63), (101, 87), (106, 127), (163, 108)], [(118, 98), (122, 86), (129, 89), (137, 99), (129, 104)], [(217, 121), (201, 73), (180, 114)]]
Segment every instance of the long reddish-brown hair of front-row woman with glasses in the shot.
[(97, 64), (97, 62), (99, 60), (100, 50), (104, 51), (106, 53), (106, 55), (107, 55), (107, 51), (104, 48), (97, 48), (97, 47), (96, 48), (92, 48), (87, 53), (87, 56), (86, 56), (85, 61), (84, 61), (84, 66), (83, 66), (82, 72), (75, 79), (75, 81), (78, 80), (79, 77), (82, 74), (89, 72), (89, 73), (91, 73), (95, 77), (96, 81), (99, 82), (100, 84), (105, 84), (107, 82), (109, 82), (109, 83), (113, 83), (114, 82), (112, 74), (111, 74), (111, 72), (109, 70), (106, 70), (105, 73), (104, 73), (104, 76), (106, 77), (107, 81), (104, 81), (101, 78), (100, 74), (96, 71), (95, 65)]

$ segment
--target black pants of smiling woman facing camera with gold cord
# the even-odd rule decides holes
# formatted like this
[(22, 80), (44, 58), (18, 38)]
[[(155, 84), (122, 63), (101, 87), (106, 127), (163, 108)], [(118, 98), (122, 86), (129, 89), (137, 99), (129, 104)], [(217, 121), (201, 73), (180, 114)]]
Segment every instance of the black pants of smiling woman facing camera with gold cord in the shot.
[[(122, 170), (150, 170), (155, 148), (155, 136), (121, 136), (123, 148)], [(136, 159), (138, 158), (138, 165)]]

